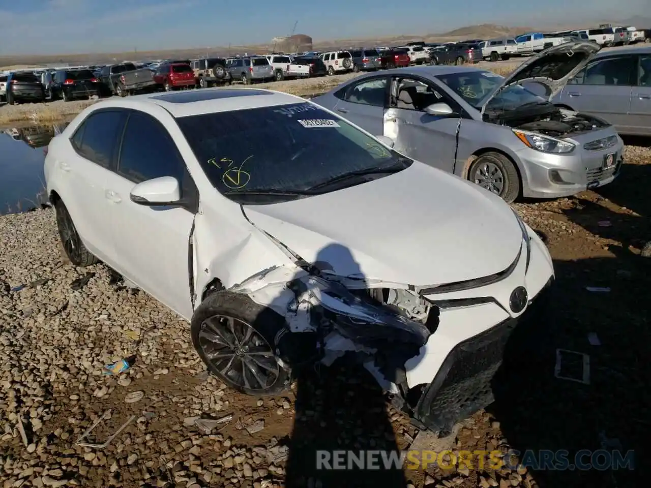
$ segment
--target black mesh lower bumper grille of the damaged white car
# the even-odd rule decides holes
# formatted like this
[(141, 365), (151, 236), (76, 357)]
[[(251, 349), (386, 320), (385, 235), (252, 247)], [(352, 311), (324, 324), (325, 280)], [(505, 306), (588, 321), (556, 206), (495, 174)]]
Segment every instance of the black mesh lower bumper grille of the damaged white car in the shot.
[(539, 293), (536, 303), (519, 318), (506, 319), (457, 344), (443, 361), (434, 381), (425, 388), (416, 405), (415, 418), (445, 436), (454, 424), (490, 405), (494, 400), (491, 382), (502, 364), (508, 337), (519, 321), (535, 316), (535, 309), (544, 306), (540, 302), (545, 292)]

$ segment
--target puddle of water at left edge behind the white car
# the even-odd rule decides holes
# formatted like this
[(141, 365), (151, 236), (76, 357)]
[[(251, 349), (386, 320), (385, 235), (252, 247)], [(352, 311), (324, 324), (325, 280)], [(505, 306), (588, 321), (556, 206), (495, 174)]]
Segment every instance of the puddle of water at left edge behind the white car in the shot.
[(48, 202), (44, 150), (67, 125), (62, 122), (0, 130), (0, 215), (31, 210)]

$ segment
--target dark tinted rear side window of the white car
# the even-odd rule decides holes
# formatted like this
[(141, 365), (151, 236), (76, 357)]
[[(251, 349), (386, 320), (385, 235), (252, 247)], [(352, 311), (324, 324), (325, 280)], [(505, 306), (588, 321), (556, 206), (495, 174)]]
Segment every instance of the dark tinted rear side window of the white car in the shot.
[[(118, 136), (124, 127), (124, 112), (96, 112), (87, 118), (72, 137), (81, 156), (108, 168), (113, 161)], [(83, 130), (81, 141), (77, 133)], [(81, 144), (79, 144), (81, 142)]]

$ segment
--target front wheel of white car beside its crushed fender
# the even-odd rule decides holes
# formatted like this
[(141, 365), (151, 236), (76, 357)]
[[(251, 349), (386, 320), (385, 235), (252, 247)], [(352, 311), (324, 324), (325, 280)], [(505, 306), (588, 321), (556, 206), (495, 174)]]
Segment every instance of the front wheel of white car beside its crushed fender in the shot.
[(275, 395), (292, 377), (274, 340), (284, 327), (283, 317), (247, 295), (217, 291), (192, 316), (192, 344), (208, 371), (234, 390)]

